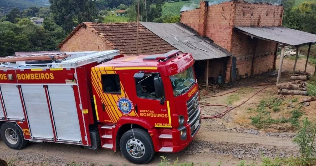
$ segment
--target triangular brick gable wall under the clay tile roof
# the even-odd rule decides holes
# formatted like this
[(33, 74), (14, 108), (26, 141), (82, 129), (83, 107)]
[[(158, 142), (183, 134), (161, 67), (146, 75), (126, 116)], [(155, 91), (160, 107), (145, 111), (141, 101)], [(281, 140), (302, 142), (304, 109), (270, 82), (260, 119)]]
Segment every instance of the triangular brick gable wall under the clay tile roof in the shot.
[(67, 42), (60, 48), (61, 51), (104, 51), (113, 50), (107, 46), (97, 34), (88, 28), (80, 28)]

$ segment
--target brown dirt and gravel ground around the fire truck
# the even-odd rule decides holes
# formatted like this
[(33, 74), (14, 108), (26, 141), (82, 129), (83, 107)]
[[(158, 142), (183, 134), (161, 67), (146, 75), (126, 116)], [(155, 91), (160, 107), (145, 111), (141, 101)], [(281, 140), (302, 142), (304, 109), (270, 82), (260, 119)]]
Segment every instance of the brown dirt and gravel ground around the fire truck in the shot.
[[(290, 71), (293, 70), (294, 61), (284, 60), (282, 81), (289, 80)], [(278, 61), (277, 61), (278, 66)], [(303, 70), (305, 66), (304, 60), (299, 60), (297, 69)], [(308, 71), (313, 72), (313, 66), (308, 66)], [(258, 75), (255, 78), (240, 80), (234, 86), (223, 89), (213, 89), (210, 94), (224, 94), (240, 87), (247, 87), (261, 83), (275, 83), (276, 72), (269, 72)], [(246, 100), (251, 94), (263, 87), (246, 88), (237, 91), (234, 94), (239, 96), (239, 100), (227, 103), (228, 95), (203, 98), (201, 102), (212, 104), (225, 104), (236, 106)], [(265, 129), (258, 130), (250, 124), (251, 117), (254, 113), (249, 108), (256, 108), (259, 102), (267, 97), (277, 95), (275, 86), (268, 86), (262, 92), (252, 97), (239, 108), (234, 109), (222, 118), (204, 119), (202, 127), (197, 134), (196, 139), (185, 150), (179, 153), (156, 153), (154, 159), (148, 165), (157, 165), (161, 162), (160, 156), (165, 156), (179, 162), (194, 162), (195, 164), (209, 163), (210, 165), (218, 165), (222, 163), (224, 166), (237, 165), (240, 160), (246, 160), (248, 163), (260, 163), (263, 156), (266, 157), (288, 157), (296, 156), (298, 149), (293, 144), (292, 138), (295, 136), (296, 129), (290, 126), (269, 126)], [(298, 101), (306, 97), (287, 96), (298, 98)], [(286, 101), (287, 99), (285, 99)], [(203, 115), (210, 116), (223, 111), (222, 107), (204, 107)], [(282, 111), (273, 116), (283, 116), (286, 106), (282, 107)], [(316, 110), (316, 101), (310, 103), (310, 106), (303, 108), (304, 116), (313, 117)], [(289, 128), (289, 129), (288, 129)], [(89, 150), (87, 148), (55, 143), (32, 143), (26, 148), (15, 151), (6, 147), (0, 140), (0, 159), (5, 159), (10, 165), (133, 165), (125, 160), (120, 152), (110, 150)], [(171, 160), (171, 161), (172, 161)]]

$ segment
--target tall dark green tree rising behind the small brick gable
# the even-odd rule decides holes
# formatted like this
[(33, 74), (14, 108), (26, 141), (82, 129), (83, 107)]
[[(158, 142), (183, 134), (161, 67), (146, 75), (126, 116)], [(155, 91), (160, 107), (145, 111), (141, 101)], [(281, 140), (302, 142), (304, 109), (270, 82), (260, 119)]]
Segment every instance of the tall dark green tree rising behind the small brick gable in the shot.
[(94, 0), (49, 0), (52, 17), (56, 24), (70, 32), (76, 23), (94, 22), (98, 16)]

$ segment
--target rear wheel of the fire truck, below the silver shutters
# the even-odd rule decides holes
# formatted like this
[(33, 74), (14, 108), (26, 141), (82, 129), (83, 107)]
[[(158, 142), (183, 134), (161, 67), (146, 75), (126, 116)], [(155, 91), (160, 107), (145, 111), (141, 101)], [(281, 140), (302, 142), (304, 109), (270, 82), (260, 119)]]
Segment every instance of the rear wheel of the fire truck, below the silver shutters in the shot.
[(0, 135), (3, 142), (11, 149), (19, 150), (28, 144), (20, 127), (11, 122), (6, 122), (1, 126)]

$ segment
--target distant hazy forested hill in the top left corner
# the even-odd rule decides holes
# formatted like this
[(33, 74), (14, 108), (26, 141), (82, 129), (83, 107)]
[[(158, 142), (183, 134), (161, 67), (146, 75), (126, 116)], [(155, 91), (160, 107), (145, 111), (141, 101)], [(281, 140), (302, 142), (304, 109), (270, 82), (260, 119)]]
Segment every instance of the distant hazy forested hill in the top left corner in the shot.
[(0, 17), (7, 15), (12, 8), (20, 10), (27, 9), (31, 6), (48, 7), (48, 0), (0, 0)]

